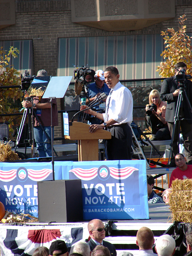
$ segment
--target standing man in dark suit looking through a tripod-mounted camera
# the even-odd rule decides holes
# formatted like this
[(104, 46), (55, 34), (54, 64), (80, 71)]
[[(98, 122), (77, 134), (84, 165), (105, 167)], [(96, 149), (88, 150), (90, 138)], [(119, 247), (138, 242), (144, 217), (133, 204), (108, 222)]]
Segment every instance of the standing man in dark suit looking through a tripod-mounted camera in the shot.
[[(172, 137), (173, 125), (174, 125), (174, 117), (176, 112), (177, 100), (180, 86), (177, 85), (176, 75), (181, 74), (181, 70), (183, 72), (186, 71), (187, 66), (184, 62), (178, 62), (175, 66), (175, 75), (173, 77), (167, 78), (163, 80), (160, 98), (163, 101), (167, 101), (165, 120), (167, 121), (168, 128)], [(192, 105), (192, 82), (188, 79), (185, 80), (185, 92), (189, 99), (190, 104)], [(180, 111), (179, 116), (184, 118), (180, 122), (181, 131), (183, 135), (183, 146), (185, 148), (186, 154), (185, 157), (187, 159), (188, 164), (192, 164), (192, 116), (191, 111), (189, 110), (189, 105), (186, 103), (187, 99), (185, 98), (185, 94), (183, 94), (182, 101), (182, 112)], [(188, 120), (186, 120), (188, 119)], [(172, 145), (172, 153), (170, 160), (170, 167), (175, 165), (175, 155), (178, 153), (178, 134), (179, 134), (179, 126), (177, 125), (175, 128), (173, 145)]]

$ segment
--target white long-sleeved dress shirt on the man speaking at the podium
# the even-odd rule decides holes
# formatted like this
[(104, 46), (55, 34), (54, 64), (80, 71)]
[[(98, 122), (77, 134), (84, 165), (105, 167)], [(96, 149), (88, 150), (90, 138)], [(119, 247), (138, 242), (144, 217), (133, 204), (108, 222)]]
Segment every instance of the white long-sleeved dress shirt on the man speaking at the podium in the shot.
[[(112, 89), (113, 93), (111, 94), (110, 98), (108, 120), (115, 120), (117, 122), (115, 124), (131, 124), (133, 121), (133, 97), (131, 92), (120, 82), (118, 82)], [(106, 100), (106, 106), (107, 103), (108, 97)], [(102, 115), (103, 118), (105, 118), (105, 113)]]

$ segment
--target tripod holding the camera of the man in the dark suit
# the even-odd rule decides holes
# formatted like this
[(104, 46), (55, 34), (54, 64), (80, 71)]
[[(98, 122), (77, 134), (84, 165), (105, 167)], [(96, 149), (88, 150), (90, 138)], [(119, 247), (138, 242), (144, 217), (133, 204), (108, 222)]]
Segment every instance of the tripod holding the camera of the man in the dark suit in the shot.
[[(178, 100), (177, 100), (177, 105), (176, 105), (176, 111), (175, 111), (175, 117), (174, 117), (174, 125), (173, 125), (173, 130), (172, 130), (172, 135), (171, 135), (171, 142), (170, 142), (170, 153), (169, 153), (169, 159), (167, 162), (167, 165), (169, 164), (169, 161), (171, 159), (171, 155), (173, 153), (173, 143), (174, 143), (174, 139), (175, 139), (175, 131), (176, 128), (178, 128), (178, 138), (177, 138), (177, 153), (179, 153), (179, 134), (180, 134), (180, 124), (182, 120), (191, 120), (191, 118), (182, 118), (182, 110), (183, 110), (183, 104), (185, 102), (185, 107), (189, 110), (186, 111), (188, 113), (191, 112), (192, 114), (192, 108), (191, 108), (191, 104), (190, 101), (187, 97), (186, 91), (184, 89), (184, 82), (180, 83), (182, 86), (180, 86), (180, 91), (179, 91), (179, 95), (178, 95)], [(172, 151), (172, 153), (171, 153)]]

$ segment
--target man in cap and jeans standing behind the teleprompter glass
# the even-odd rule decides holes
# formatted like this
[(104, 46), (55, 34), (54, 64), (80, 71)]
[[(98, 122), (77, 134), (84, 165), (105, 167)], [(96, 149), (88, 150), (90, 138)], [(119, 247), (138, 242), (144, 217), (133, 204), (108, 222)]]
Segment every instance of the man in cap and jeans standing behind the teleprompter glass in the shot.
[[(45, 77), (47, 75), (47, 71), (39, 70), (37, 72), (37, 77)], [(33, 98), (33, 103), (28, 100), (22, 101), (23, 107), (33, 107), (38, 119), (34, 117), (34, 138), (37, 146), (37, 152), (39, 157), (51, 157), (52, 156), (52, 149), (51, 143), (51, 103), (49, 98), (40, 98), (35, 97)], [(52, 99), (52, 125), (53, 129), (54, 126), (58, 126), (58, 110), (57, 110), (57, 100)], [(43, 126), (46, 134), (48, 135), (49, 139), (47, 138), (45, 132), (41, 128)], [(54, 135), (54, 130), (53, 130)], [(34, 146), (34, 145), (33, 145)]]

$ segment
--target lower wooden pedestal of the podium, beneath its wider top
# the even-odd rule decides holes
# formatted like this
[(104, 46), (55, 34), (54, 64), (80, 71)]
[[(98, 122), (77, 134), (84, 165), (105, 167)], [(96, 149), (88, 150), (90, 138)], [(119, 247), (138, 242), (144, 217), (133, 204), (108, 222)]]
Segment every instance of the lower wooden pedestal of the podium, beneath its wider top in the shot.
[(79, 161), (98, 161), (98, 140), (78, 141)]

